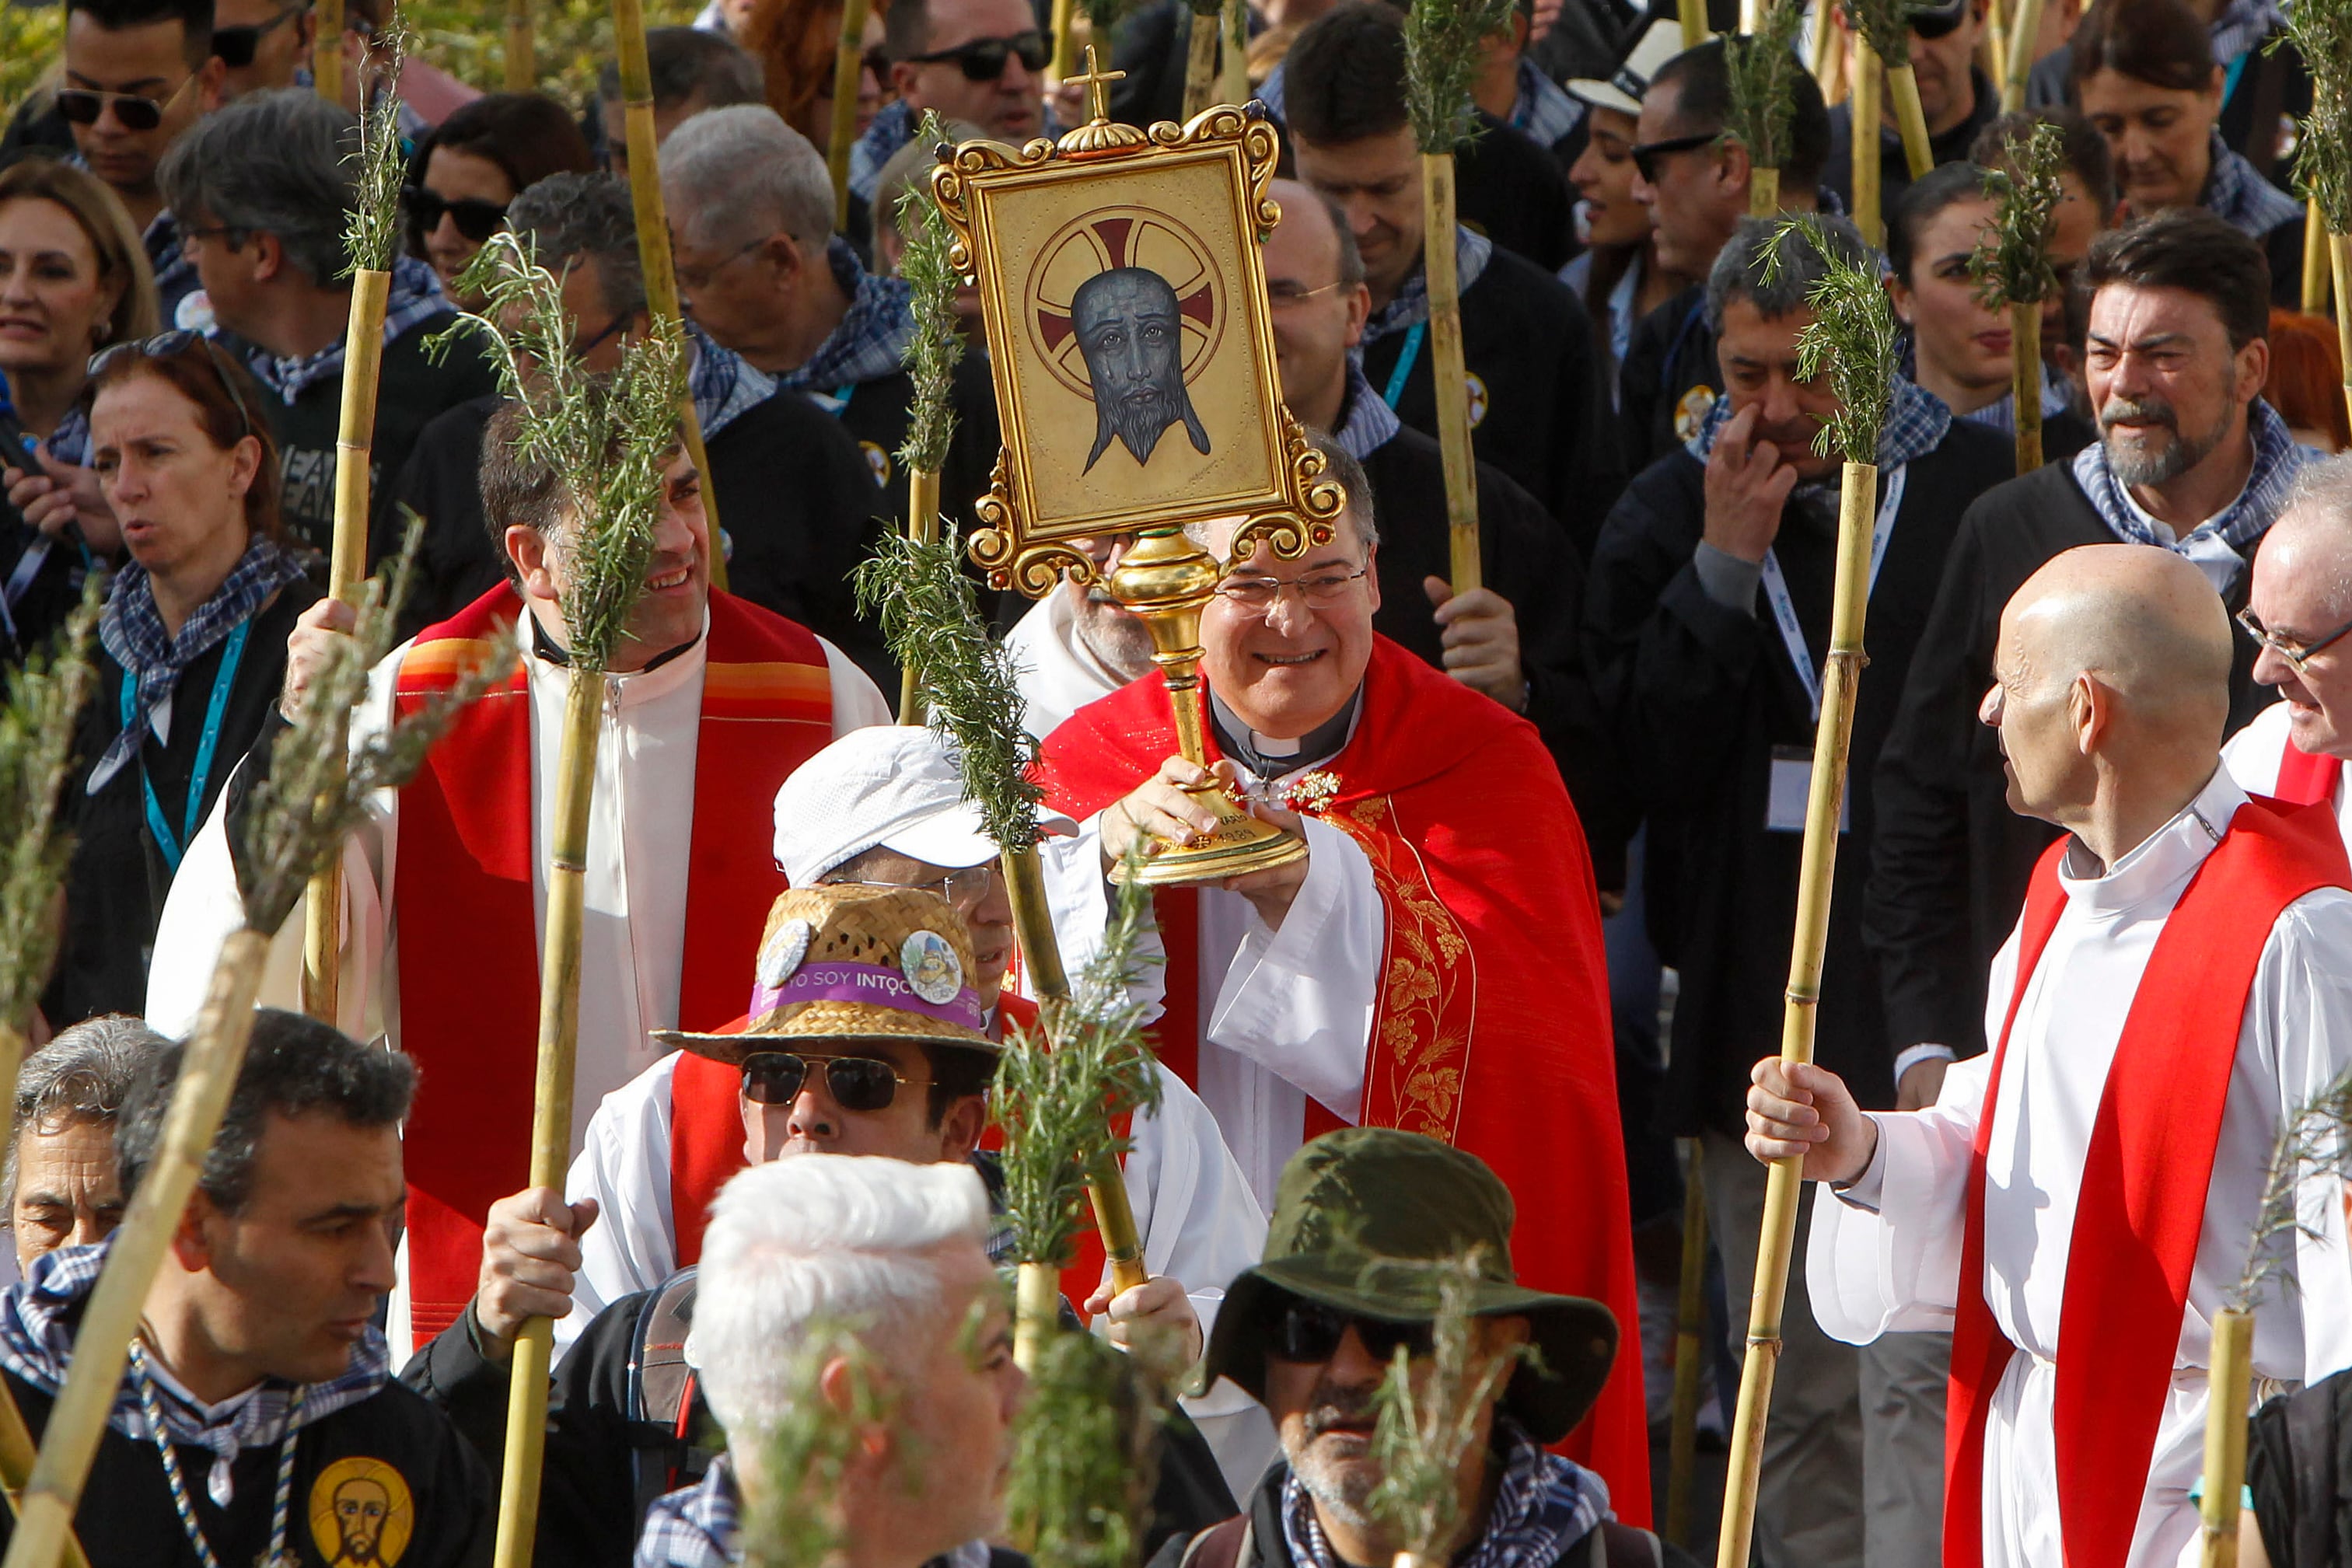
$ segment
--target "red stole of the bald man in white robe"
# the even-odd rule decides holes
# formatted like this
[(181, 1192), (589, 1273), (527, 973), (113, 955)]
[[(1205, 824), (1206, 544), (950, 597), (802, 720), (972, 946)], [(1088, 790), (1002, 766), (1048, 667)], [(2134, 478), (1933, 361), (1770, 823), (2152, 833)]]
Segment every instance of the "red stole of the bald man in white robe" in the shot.
[[(1945, 1568), (1983, 1563), (1985, 1429), (2016, 1354), (1985, 1302), (1985, 1152), (2009, 1034), (2065, 910), (2058, 858), (2067, 842), (2051, 844), (2025, 893), (2018, 983), (1976, 1124), (1952, 1324)], [(2131, 1552), (2180, 1347), (2246, 992), (2279, 914), (2324, 886), (2352, 886), (2333, 811), (2253, 797), (2173, 905), (2124, 1018), (2084, 1157), (2058, 1319), (2053, 1418), (2070, 1568), (2122, 1568)]]

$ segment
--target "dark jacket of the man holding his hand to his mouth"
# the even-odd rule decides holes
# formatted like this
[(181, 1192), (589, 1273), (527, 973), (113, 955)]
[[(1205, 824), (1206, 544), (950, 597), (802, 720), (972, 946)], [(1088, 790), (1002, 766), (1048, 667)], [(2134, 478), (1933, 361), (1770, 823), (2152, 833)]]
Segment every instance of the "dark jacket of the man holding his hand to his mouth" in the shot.
[[(1919, 646), (1945, 550), (1966, 505), (1999, 484), (2013, 451), (1997, 433), (1952, 421), (1905, 468), (1865, 646), (1853, 757), (1877, 755)], [(1653, 924), (1682, 971), (1675, 1004), (1670, 1114), (1677, 1133), (1736, 1131), (1748, 1067), (1780, 1041), (1780, 1001), (1804, 835), (1766, 825), (1776, 757), (1809, 766), (1813, 712), (1759, 590), (1750, 609), (1719, 604), (1691, 557), (1705, 531), (1705, 465), (1677, 451), (1618, 501), (1585, 602), (1585, 649), (1618, 745), (1651, 813), (1675, 839), (1675, 886), (1651, 882)], [(1837, 498), (1790, 501), (1773, 557), (1788, 578), (1813, 670), (1823, 668), (1835, 576)], [(1893, 1105), (1893, 1053), (1877, 969), (1860, 940), (1860, 893), (1882, 820), (1867, 771), (1846, 785), (1851, 830), (1837, 849), (1816, 1051), (1870, 1107)], [(1799, 809), (1802, 816), (1802, 809)], [(1910, 1041), (1905, 1041), (1910, 1044)]]

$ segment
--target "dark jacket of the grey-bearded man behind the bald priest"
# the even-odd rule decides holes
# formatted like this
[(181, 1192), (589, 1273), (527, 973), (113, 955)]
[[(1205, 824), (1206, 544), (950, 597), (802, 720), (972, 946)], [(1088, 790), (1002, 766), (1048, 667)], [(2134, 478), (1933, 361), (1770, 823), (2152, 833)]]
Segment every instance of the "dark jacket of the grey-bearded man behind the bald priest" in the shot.
[[(1879, 961), (1886, 1046), (1985, 1048), (1985, 969), (2025, 905), (2034, 860), (2058, 837), (2009, 809), (1994, 733), (1976, 719), (1992, 684), (2002, 607), (2046, 559), (2114, 534), (2051, 463), (1994, 487), (1959, 522), (1943, 590), (1877, 759), (1879, 832), (1863, 896), (1863, 936)], [(2246, 574), (2225, 599), (2246, 604)], [(2230, 731), (2277, 693), (2253, 684), (2253, 644), (2230, 668)], [(1863, 684), (1867, 691), (1867, 679)], [(1856, 745), (1858, 764), (1870, 752)]]

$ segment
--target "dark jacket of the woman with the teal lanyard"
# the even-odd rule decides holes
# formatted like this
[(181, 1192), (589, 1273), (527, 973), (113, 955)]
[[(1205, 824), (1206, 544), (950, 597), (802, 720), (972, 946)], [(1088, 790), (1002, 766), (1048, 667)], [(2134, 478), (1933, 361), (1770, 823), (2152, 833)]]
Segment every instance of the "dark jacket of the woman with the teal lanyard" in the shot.
[(221, 712), (221, 733), (212, 748), (205, 795), (188, 802), (195, 757), (202, 750), (205, 710), (212, 682), (221, 672), (228, 639), (205, 649), (172, 691), (172, 745), (151, 733), (139, 748), (139, 762), (115, 773), (96, 795), (85, 792), (89, 769), (106, 745), (122, 733), (122, 665), (103, 649), (94, 654), (99, 689), (82, 708), (73, 736), (80, 759), (66, 776), (61, 813), (73, 832), (73, 863), (66, 872), (66, 940), (56, 954), (56, 978), (42, 997), (42, 1013), (54, 1027), (66, 1027), (99, 1013), (146, 1013), (146, 971), (155, 945), (155, 922), (172, 891), (172, 865), (165, 860), (146, 816), (146, 783), (155, 788), (155, 806), (165, 825), (188, 846), (183, 832), (191, 816), (202, 823), (238, 762), (266, 733), (278, 712), (278, 691), (287, 677), (287, 637), (301, 611), (318, 602), (318, 588), (294, 581), (252, 621), (238, 675)]

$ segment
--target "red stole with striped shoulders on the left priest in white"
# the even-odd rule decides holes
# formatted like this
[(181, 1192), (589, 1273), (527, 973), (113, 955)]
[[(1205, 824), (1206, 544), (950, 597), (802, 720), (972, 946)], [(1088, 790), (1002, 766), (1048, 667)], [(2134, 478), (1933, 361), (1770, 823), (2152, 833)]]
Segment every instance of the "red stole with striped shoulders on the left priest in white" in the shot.
[[(400, 661), (397, 712), (445, 691), (520, 614), (496, 588)], [(833, 682), (814, 635), (710, 595), (703, 717), (694, 743), (684, 973), (677, 1023), (743, 1006), (767, 907), (776, 788), (833, 738)], [(400, 792), (400, 1041), (428, 1088), (407, 1126), (409, 1321), (416, 1342), (466, 1309), (489, 1204), (529, 1173), (539, 1039), (532, 865), (532, 696), (522, 670), (459, 715)]]

